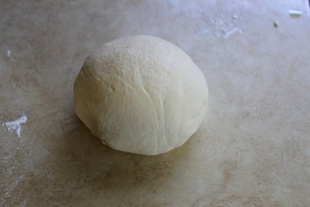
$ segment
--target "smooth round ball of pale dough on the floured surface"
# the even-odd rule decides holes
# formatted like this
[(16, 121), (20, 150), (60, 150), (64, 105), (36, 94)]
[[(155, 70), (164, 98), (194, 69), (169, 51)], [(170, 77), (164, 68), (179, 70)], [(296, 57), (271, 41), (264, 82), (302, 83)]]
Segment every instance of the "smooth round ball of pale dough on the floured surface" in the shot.
[(104, 144), (143, 155), (166, 153), (198, 129), (208, 88), (191, 58), (170, 42), (131, 36), (88, 56), (74, 83), (74, 109)]

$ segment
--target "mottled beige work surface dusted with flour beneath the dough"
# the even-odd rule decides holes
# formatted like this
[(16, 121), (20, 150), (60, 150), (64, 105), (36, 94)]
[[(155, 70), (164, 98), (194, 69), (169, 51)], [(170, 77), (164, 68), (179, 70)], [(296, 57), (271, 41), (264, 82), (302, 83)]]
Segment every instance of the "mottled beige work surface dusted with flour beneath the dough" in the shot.
[[(0, 31), (0, 206), (310, 206), (307, 0), (3, 0)], [(137, 34), (209, 87), (198, 131), (159, 156), (110, 149), (73, 110), (85, 58)]]

